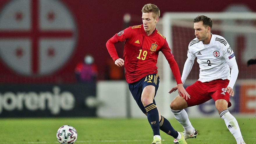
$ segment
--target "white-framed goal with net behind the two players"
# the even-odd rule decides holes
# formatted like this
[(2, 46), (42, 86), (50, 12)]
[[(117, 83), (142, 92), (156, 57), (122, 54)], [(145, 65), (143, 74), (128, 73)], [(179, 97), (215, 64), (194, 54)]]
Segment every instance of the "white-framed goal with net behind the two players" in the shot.
[[(193, 19), (198, 15), (210, 17), (213, 21), (211, 33), (223, 36), (234, 51), (239, 67), (236, 85), (245, 81), (256, 85), (256, 65), (247, 66), (249, 59), (256, 58), (256, 13), (165, 13), (157, 24), (157, 29), (166, 37), (181, 74), (187, 58), (189, 42), (195, 38)], [(158, 95), (163, 95), (163, 101), (170, 102), (177, 92), (171, 96), (167, 92), (176, 86), (176, 81), (162, 54), (159, 54), (157, 67), (162, 87)], [(191, 85), (197, 79), (199, 79), (199, 65), (195, 60), (185, 86)], [(170, 111), (166, 112), (168, 113)]]

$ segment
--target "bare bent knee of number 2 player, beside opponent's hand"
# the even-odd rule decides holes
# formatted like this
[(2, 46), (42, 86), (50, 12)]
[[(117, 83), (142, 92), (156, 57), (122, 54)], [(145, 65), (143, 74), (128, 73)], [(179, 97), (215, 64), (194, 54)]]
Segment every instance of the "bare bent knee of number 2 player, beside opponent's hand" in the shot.
[(173, 99), (173, 101), (170, 103), (170, 108), (174, 111), (182, 110), (188, 107), (187, 102), (185, 99), (179, 95)]

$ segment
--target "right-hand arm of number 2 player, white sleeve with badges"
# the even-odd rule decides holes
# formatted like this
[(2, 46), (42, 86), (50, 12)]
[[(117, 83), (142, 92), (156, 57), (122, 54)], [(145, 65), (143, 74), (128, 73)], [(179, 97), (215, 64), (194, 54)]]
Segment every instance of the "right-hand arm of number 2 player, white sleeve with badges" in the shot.
[(229, 44), (227, 44), (227, 46), (223, 46), (222, 51), (223, 51), (223, 56), (225, 58), (225, 61), (230, 67), (230, 81), (227, 85), (226, 90), (227, 90), (227, 93), (229, 93), (233, 97), (234, 96), (233, 87), (237, 81), (237, 76), (238, 76), (237, 61), (236, 61), (234, 51), (232, 51)]

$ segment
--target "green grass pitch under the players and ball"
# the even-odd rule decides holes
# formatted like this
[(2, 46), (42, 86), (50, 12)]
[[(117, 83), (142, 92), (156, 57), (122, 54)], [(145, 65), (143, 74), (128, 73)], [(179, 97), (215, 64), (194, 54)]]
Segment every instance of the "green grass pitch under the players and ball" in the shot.
[[(247, 144), (256, 144), (256, 116), (237, 118)], [(177, 120), (169, 120), (175, 130), (183, 131)], [(235, 144), (221, 118), (191, 118), (198, 136), (188, 144)], [(0, 118), (0, 144), (58, 144), (56, 132), (62, 125), (75, 127), (75, 144), (151, 144), (152, 130), (143, 119), (102, 118)], [(173, 138), (161, 132), (163, 144), (172, 144)]]

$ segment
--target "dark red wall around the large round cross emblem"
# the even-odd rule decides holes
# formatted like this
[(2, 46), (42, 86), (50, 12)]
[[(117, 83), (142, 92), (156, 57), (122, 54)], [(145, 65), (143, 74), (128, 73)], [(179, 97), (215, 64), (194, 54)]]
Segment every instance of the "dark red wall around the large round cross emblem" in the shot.
[[(215, 1), (149, 1), (149, 0), (62, 0), (75, 17), (78, 29), (77, 48), (66, 65), (51, 75), (44, 77), (24, 77), (10, 70), (2, 60), (0, 60), (0, 75), (8, 75), (0, 78), (1, 83), (38, 83), (38, 82), (74, 82), (74, 67), (83, 60), (86, 53), (90, 53), (95, 58), (99, 70), (99, 79), (104, 79), (106, 60), (110, 58), (106, 41), (115, 33), (123, 29), (123, 15), (130, 13), (137, 17), (132, 17), (131, 25), (141, 24), (141, 8), (146, 3), (156, 4), (161, 12), (220, 12), (230, 4), (245, 4), (252, 11), (256, 11), (255, 2), (252, 0), (215, 0)], [(0, 0), (0, 9), (9, 0)], [(161, 19), (160, 16), (160, 19)], [(117, 44), (116, 48), (122, 57), (122, 45)]]

